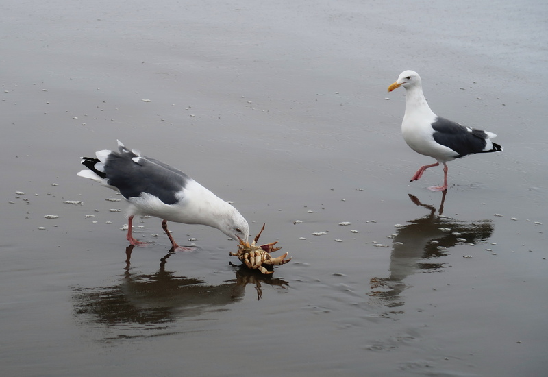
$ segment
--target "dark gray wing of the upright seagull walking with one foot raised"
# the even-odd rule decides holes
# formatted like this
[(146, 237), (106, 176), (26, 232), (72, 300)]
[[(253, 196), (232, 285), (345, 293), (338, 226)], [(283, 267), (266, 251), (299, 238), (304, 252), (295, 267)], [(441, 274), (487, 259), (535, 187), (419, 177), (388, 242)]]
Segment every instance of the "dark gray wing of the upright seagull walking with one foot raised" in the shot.
[(467, 154), (482, 153), (486, 146), (487, 134), (482, 130), (464, 127), (456, 122), (437, 117), (432, 123), (434, 140), (458, 153), (457, 158)]

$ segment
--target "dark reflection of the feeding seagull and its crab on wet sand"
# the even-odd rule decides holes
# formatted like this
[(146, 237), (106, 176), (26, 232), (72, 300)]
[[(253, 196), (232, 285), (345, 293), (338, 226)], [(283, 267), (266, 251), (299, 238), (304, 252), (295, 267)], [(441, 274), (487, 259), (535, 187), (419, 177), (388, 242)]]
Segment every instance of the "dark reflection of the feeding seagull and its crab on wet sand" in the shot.
[[(126, 249), (123, 278), (110, 287), (74, 289), (73, 307), (77, 316), (91, 316), (113, 330), (162, 328), (182, 317), (195, 317), (219, 311), (229, 304), (240, 302), (246, 284), (254, 284), (261, 298), (261, 284), (286, 288), (288, 282), (270, 278), (257, 271), (236, 270), (236, 278), (223, 284), (207, 284), (197, 278), (176, 276), (166, 271), (166, 254), (155, 273), (132, 273), (131, 256), (134, 249)], [(84, 321), (83, 323), (88, 323)], [(124, 336), (121, 332), (119, 337)]]

